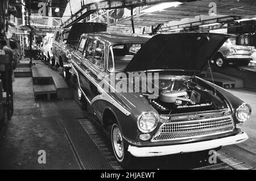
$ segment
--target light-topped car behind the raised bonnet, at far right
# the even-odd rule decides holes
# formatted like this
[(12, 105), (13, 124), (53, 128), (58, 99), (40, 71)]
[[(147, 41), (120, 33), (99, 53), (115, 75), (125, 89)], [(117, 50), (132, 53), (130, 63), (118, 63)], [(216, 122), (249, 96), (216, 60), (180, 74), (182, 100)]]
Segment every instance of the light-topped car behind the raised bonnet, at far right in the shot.
[(214, 64), (223, 68), (232, 62), (235, 65), (247, 66), (252, 60), (252, 51), (250, 47), (235, 45), (232, 40), (228, 39), (214, 55)]

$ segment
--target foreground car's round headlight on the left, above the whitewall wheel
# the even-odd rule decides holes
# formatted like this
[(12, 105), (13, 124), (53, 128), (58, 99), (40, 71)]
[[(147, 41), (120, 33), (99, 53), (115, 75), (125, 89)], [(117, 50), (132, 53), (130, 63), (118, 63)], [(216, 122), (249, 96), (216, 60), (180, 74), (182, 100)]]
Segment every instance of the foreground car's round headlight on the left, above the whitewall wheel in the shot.
[(158, 124), (158, 116), (155, 112), (143, 112), (138, 117), (138, 128), (143, 133), (149, 133), (153, 131)]

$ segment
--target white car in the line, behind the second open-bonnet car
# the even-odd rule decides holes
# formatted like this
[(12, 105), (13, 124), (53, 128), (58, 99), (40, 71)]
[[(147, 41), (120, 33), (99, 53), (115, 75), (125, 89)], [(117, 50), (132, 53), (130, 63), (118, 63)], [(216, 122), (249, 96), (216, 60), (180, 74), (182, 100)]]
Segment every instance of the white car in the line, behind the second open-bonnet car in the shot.
[(53, 42), (53, 33), (47, 33), (46, 37), (43, 39), (43, 46), (42, 46), (42, 57), (45, 62), (48, 62), (49, 64), (52, 63), (53, 60), (53, 54), (52, 54), (52, 42)]

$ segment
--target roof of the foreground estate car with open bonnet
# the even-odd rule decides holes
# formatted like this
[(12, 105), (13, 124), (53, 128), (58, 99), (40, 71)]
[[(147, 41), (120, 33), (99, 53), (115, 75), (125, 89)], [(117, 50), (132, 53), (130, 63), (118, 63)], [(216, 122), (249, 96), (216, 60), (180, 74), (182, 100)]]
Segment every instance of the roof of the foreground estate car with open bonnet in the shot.
[(135, 33), (121, 33), (121, 32), (97, 32), (86, 33), (82, 37), (94, 37), (95, 39), (104, 41), (107, 44), (117, 43), (146, 43), (151, 36), (138, 35)]

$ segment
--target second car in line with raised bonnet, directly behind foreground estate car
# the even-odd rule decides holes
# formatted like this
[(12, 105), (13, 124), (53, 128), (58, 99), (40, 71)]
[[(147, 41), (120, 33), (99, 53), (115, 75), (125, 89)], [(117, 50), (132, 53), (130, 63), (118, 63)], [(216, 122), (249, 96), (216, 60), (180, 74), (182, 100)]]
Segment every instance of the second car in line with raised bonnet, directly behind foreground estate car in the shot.
[(53, 36), (53, 56), (51, 65), (63, 68), (66, 80), (70, 78), (71, 52), (77, 48), (82, 33), (106, 31), (107, 24), (104, 23), (75, 23), (71, 29), (60, 29)]

